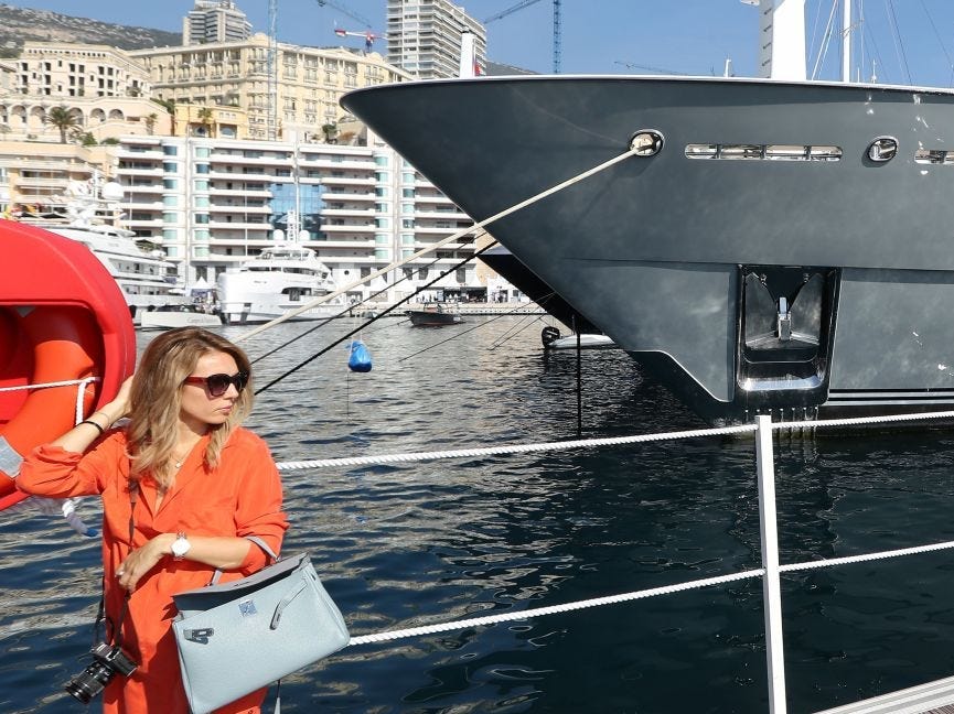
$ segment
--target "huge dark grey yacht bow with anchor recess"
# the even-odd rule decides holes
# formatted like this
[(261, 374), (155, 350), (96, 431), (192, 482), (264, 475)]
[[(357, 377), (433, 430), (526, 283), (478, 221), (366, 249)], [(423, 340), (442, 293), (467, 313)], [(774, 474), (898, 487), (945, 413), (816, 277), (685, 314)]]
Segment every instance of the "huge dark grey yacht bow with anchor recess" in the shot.
[(489, 230), (710, 421), (954, 409), (951, 89), (558, 75), (342, 105), (478, 221), (604, 166)]

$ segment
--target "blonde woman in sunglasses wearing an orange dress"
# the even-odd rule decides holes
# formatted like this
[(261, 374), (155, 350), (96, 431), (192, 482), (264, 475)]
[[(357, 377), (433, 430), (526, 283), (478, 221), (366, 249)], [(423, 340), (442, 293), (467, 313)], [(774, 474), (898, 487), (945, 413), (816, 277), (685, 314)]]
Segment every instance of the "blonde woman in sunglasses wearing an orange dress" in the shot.
[[(288, 523), (278, 470), (265, 442), (239, 426), (249, 380), (248, 357), (227, 339), (171, 329), (115, 400), (22, 465), (17, 485), (26, 493), (103, 498), (106, 642), (138, 664), (112, 677), (104, 712), (187, 714), (172, 595), (206, 585), (216, 569), (227, 582), (266, 565), (246, 536), (279, 551)], [(122, 416), (128, 424), (110, 430)], [(264, 697), (219, 711), (255, 713)]]

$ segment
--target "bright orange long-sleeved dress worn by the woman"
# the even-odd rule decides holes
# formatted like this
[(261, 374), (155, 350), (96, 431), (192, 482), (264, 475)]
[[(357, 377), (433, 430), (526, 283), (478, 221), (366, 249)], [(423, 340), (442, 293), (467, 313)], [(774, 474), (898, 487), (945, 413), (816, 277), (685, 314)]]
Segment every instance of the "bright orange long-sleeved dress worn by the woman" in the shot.
[[(203, 463), (207, 443), (208, 436), (204, 436), (192, 450), (159, 508), (156, 482), (142, 479), (131, 548), (140, 548), (160, 533), (183, 531), (189, 536), (258, 536), (278, 553), (288, 521), (281, 510), (281, 482), (268, 446), (250, 431), (237, 429), (222, 450), (218, 466), (208, 469)], [(103, 498), (109, 641), (126, 598), (126, 591), (116, 582), (116, 570), (130, 551), (126, 444), (126, 433), (112, 431), (85, 454), (39, 446), (17, 477), (18, 488), (29, 494), (55, 498), (98, 494)], [(266, 561), (266, 554), (253, 544), (242, 567), (223, 573), (221, 582), (254, 573)], [(172, 636), (176, 613), (172, 595), (206, 585), (214, 571), (203, 563), (164, 558), (139, 581), (122, 620), (122, 650), (139, 667), (128, 678), (116, 674), (106, 686), (105, 714), (189, 714)], [(218, 712), (256, 713), (265, 694), (266, 690), (253, 692)]]

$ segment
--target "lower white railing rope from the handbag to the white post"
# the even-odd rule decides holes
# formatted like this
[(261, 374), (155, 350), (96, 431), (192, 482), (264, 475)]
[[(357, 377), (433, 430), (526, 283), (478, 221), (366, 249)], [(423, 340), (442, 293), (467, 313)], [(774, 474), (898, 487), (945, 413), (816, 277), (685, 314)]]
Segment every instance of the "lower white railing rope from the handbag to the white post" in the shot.
[(487, 615), (486, 617), (474, 617), (471, 619), (457, 620), (453, 623), (442, 623), (439, 625), (425, 625), (424, 627), (412, 627), (409, 629), (392, 630), (389, 632), (377, 632), (374, 635), (361, 635), (352, 637), (349, 645), (369, 645), (372, 642), (384, 642), (388, 640), (404, 639), (407, 637), (418, 637), (420, 635), (432, 635), (435, 632), (446, 632), (448, 630), (464, 629), (468, 627), (480, 627), (484, 625), (494, 625), (496, 623), (507, 623), (513, 620), (529, 619), (530, 617), (543, 617), (554, 615), (556, 613), (569, 613), (572, 610), (583, 609), (587, 607), (600, 607), (603, 605), (615, 605), (617, 603), (625, 603), (634, 599), (643, 599), (646, 597), (655, 597), (657, 595), (669, 595), (672, 593), (680, 593), (698, 587), (707, 587), (709, 585), (720, 585), (722, 583), (732, 583), (750, 577), (760, 577), (765, 574), (762, 569), (744, 571), (742, 573), (732, 573), (730, 575), (719, 575), (717, 577), (707, 577), (705, 580), (693, 581), (689, 583), (680, 583), (678, 585), (666, 585), (664, 587), (653, 587), (651, 589), (635, 591), (624, 593), (622, 595), (609, 595), (607, 597), (596, 597), (593, 599), (578, 601), (565, 605), (551, 605), (549, 607), (537, 607), (518, 613), (503, 613), (500, 615)]

